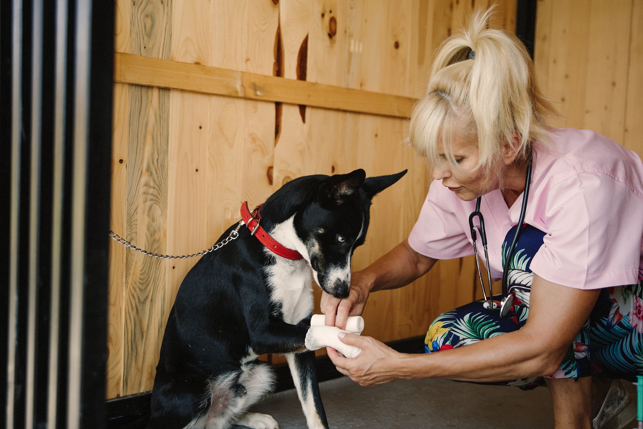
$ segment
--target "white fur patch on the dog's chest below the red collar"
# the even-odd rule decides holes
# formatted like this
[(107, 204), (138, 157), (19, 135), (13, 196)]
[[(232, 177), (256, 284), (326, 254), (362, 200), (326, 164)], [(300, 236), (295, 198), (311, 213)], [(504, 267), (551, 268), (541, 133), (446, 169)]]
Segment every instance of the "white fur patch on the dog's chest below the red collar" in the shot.
[(284, 322), (297, 324), (312, 311), (312, 277), (305, 260), (276, 260), (266, 268), (271, 300), (280, 304)]

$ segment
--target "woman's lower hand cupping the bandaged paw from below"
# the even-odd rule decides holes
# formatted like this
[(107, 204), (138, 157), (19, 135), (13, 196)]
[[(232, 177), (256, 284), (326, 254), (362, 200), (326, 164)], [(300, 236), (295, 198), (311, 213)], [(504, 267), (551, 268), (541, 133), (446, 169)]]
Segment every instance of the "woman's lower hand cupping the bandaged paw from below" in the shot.
[(404, 354), (394, 351), (384, 343), (370, 336), (340, 334), (340, 341), (362, 349), (356, 358), (345, 358), (332, 347), (326, 347), (329, 358), (339, 372), (349, 376), (362, 386), (390, 383), (408, 374), (403, 370), (401, 361)]

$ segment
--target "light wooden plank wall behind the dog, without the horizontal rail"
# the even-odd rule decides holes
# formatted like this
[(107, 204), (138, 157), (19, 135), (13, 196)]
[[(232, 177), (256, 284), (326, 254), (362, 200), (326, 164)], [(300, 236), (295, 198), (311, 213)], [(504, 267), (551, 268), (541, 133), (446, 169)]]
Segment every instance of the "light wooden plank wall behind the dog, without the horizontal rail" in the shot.
[[(115, 50), (417, 98), (433, 51), (489, 0), (117, 0)], [(515, 0), (494, 24), (513, 30)], [(304, 174), (409, 173), (376, 197), (360, 269), (403, 240), (430, 174), (403, 143), (404, 119), (114, 84), (112, 221), (140, 248), (210, 247), (256, 205)], [(150, 390), (181, 279), (196, 259), (159, 260), (111, 244), (107, 397)], [(443, 261), (397, 291), (372, 295), (365, 334), (426, 332), (473, 298), (474, 262)], [(318, 293), (319, 295), (319, 293)], [(271, 361), (278, 361), (273, 358)]]

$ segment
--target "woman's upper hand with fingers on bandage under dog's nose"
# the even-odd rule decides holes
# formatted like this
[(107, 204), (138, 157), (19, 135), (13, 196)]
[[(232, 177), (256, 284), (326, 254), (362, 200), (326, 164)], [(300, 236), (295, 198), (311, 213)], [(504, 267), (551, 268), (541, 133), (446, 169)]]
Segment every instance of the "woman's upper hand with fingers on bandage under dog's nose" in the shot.
[(335, 298), (321, 292), (321, 313), (326, 315), (325, 324), (340, 329), (346, 327), (349, 316), (361, 316), (368, 300), (368, 294), (373, 287), (374, 278), (363, 271), (350, 275), (350, 291), (346, 298)]

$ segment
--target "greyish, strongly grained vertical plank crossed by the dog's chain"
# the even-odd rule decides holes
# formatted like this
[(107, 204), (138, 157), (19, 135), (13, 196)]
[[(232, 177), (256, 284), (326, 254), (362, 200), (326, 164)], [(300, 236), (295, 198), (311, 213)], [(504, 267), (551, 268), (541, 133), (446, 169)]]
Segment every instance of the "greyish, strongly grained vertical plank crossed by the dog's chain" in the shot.
[[(139, 1), (131, 9), (131, 51), (168, 59), (172, 1)], [(123, 54), (126, 55), (126, 54)], [(127, 238), (141, 248), (166, 253), (170, 91), (129, 89)], [(163, 334), (165, 261), (125, 255), (123, 394), (150, 390)]]

